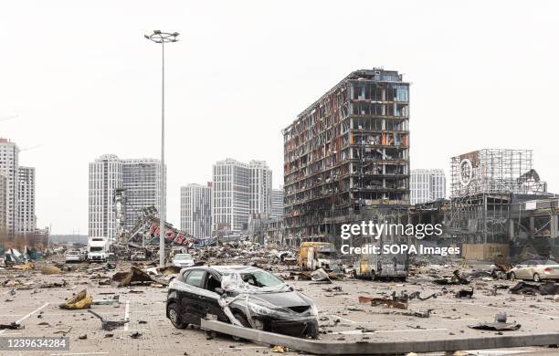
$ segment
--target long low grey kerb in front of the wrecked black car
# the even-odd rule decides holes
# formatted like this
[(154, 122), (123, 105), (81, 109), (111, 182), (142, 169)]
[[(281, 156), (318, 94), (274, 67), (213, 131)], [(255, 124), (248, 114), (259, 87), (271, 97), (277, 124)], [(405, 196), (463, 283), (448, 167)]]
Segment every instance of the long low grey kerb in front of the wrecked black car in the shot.
[(281, 345), (293, 350), (310, 352), (317, 355), (380, 355), (408, 352), (504, 349), (559, 344), (559, 332), (530, 335), (516, 334), (512, 336), (483, 336), (466, 339), (343, 342), (294, 338), (273, 332), (238, 327), (225, 322), (206, 319), (202, 319), (202, 328), (237, 336), (238, 338), (246, 340), (253, 340), (269, 345)]

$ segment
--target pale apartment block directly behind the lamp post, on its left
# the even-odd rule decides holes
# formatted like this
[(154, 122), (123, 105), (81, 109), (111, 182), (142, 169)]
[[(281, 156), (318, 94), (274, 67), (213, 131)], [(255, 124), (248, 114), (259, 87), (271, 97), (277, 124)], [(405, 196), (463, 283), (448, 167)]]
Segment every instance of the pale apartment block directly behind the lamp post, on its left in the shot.
[(124, 192), (124, 228), (131, 230), (142, 218), (142, 209), (161, 204), (161, 161), (155, 159), (122, 160)]

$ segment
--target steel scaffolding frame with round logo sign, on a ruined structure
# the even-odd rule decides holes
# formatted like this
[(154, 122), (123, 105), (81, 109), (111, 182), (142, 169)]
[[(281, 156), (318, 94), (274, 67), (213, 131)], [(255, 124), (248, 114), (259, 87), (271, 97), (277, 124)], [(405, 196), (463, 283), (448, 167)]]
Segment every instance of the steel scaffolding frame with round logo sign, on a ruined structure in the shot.
[(450, 229), (470, 243), (505, 242), (512, 194), (542, 194), (532, 150), (484, 149), (450, 162)]

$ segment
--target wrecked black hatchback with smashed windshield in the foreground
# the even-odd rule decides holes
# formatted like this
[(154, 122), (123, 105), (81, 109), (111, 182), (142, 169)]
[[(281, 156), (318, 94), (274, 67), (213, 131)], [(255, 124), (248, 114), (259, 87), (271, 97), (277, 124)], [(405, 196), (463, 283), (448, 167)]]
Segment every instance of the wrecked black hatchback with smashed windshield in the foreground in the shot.
[(258, 267), (183, 268), (169, 285), (166, 309), (177, 329), (216, 319), (295, 337), (318, 337), (318, 309), (311, 298)]

